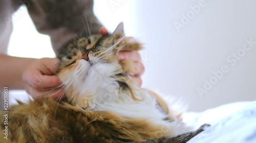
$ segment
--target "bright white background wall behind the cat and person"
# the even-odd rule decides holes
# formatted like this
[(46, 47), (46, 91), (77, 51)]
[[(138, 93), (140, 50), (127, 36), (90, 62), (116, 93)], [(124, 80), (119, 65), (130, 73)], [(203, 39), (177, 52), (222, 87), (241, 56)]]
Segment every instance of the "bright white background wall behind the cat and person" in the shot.
[[(229, 102), (255, 100), (256, 44), (234, 66), (227, 58), (242, 50), (245, 39), (256, 41), (256, 1), (206, 0), (200, 11), (191, 15), (193, 18), (178, 32), (175, 21), (181, 22), (182, 14), (189, 13), (190, 6), (199, 2), (95, 0), (95, 12), (110, 31), (123, 21), (127, 36), (134, 36), (145, 44), (142, 52), (146, 66), (143, 87), (184, 97), (189, 110), (194, 111)], [(35, 37), (38, 34), (26, 17), (25, 12), (14, 21), (12, 37), (16, 39), (12, 38), (12, 42), (19, 46), (10, 44), (12, 50), (9, 53), (29, 57), (53, 56), (48, 37)], [(47, 40), (42, 42), (41, 38)], [(28, 45), (36, 39), (40, 40)], [(41, 43), (46, 45), (38, 47)], [(20, 47), (30, 47), (32, 51), (22, 51)], [(46, 49), (47, 52), (42, 53)], [(200, 96), (197, 88), (204, 89), (204, 79), (214, 79), (212, 71), (221, 70), (224, 65), (229, 71)]]

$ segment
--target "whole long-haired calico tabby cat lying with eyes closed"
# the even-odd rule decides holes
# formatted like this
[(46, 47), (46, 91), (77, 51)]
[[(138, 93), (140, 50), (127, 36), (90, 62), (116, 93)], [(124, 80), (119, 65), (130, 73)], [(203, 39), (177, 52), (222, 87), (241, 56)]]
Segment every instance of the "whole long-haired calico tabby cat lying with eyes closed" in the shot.
[[(119, 50), (140, 50), (113, 34), (79, 38), (60, 49), (57, 75), (66, 100), (37, 98), (19, 102), (8, 113), (8, 139), (0, 142), (187, 142), (209, 125), (191, 131), (153, 91), (130, 78), (133, 62), (118, 61)], [(0, 116), (4, 116), (3, 111)], [(6, 125), (1, 118), (1, 131)]]

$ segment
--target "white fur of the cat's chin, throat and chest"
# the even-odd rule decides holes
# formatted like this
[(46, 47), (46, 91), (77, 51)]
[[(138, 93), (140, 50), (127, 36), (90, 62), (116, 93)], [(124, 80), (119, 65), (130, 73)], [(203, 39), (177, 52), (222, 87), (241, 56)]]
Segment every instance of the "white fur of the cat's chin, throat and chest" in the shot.
[(146, 90), (133, 85), (134, 94), (139, 101), (132, 99), (127, 92), (119, 92), (114, 79), (114, 64), (95, 64), (88, 70), (86, 80), (80, 84), (77, 100), (93, 95), (89, 104), (92, 110), (111, 111), (127, 118), (163, 120), (167, 115), (158, 106), (156, 99)]

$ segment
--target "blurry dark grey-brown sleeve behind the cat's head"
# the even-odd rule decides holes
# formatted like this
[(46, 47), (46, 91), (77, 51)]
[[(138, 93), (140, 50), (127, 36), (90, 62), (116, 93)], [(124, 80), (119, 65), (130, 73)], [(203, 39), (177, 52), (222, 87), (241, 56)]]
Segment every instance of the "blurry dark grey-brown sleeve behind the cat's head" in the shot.
[(25, 3), (38, 30), (51, 37), (55, 53), (77, 37), (97, 34), (102, 24), (93, 0), (44, 0)]

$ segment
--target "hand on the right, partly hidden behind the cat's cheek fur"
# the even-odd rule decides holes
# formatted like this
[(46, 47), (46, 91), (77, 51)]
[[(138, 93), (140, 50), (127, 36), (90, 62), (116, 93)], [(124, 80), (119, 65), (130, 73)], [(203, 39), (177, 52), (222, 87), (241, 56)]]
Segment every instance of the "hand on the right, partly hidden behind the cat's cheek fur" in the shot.
[[(102, 35), (109, 34), (109, 32), (104, 27), (100, 28), (99, 33), (102, 34)], [(133, 37), (124, 37), (123, 40), (133, 41), (134, 38)], [(134, 71), (135, 71), (135, 74), (133, 74), (131, 76), (132, 76), (132, 79), (134, 81), (136, 81), (139, 85), (141, 85), (142, 84), (141, 75), (144, 73), (145, 67), (142, 64), (142, 59), (141, 59), (140, 53), (138, 51), (135, 51), (135, 50), (133, 50), (133, 51), (119, 51), (118, 59), (119, 59), (120, 62), (124, 61), (124, 60), (130, 60), (130, 61), (133, 61), (135, 63), (135, 65), (133, 67)]]

